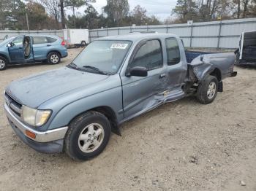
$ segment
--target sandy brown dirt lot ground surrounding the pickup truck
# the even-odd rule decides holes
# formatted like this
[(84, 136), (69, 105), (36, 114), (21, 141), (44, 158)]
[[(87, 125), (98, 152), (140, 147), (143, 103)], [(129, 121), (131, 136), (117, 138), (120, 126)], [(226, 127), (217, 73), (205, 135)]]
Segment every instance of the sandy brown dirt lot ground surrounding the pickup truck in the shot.
[[(0, 72), (12, 80), (57, 66), (34, 64)], [(184, 98), (121, 126), (102, 155), (74, 162), (45, 155), (12, 132), (0, 98), (0, 190), (256, 190), (256, 69), (236, 68), (213, 104)], [(241, 181), (246, 185), (241, 186)]]

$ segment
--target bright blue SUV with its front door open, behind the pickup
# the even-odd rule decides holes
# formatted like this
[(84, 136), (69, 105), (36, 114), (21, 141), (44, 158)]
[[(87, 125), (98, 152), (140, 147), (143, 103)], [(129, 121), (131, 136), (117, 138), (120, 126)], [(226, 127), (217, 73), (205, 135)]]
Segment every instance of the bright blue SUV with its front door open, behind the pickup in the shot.
[(0, 43), (0, 70), (8, 65), (47, 61), (57, 64), (67, 57), (65, 42), (53, 35), (12, 36)]

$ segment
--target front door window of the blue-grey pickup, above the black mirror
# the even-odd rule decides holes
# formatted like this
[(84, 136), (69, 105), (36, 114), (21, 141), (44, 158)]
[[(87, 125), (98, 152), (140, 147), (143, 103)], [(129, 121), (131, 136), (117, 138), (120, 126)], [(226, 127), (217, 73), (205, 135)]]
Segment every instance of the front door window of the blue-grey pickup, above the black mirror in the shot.
[(138, 50), (129, 68), (143, 66), (148, 70), (159, 69), (162, 63), (162, 47), (159, 40), (149, 40)]

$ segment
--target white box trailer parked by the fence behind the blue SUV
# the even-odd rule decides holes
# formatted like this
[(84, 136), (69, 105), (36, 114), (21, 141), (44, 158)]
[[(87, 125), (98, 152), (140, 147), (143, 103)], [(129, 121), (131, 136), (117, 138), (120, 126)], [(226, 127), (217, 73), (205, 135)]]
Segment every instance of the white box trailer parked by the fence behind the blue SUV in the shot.
[(64, 29), (63, 34), (68, 47), (85, 47), (86, 44), (89, 44), (88, 29)]

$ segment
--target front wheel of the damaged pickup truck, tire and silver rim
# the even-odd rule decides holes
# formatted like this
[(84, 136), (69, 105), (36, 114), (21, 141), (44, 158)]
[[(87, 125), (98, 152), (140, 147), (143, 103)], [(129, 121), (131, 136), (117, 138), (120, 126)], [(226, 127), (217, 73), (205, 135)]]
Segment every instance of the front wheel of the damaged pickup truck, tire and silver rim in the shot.
[(70, 123), (64, 140), (64, 151), (74, 160), (89, 160), (105, 149), (110, 133), (110, 122), (105, 115), (86, 112)]

